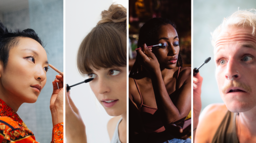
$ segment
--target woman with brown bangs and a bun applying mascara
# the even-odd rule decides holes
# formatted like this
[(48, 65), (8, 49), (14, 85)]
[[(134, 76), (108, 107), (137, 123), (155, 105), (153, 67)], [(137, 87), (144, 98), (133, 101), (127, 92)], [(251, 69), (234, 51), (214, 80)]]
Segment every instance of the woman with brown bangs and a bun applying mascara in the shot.
[[(80, 44), (77, 67), (82, 76), (94, 78), (90, 81), (94, 95), (114, 116), (108, 123), (111, 142), (126, 142), (126, 9), (113, 4), (101, 16)], [(70, 92), (66, 101), (67, 142), (86, 142), (85, 126)]]

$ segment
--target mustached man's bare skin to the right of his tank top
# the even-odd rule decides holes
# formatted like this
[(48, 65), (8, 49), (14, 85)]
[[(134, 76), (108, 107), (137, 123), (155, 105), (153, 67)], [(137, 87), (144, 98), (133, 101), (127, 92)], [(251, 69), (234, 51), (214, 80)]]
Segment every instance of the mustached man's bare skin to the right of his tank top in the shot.
[(256, 135), (256, 106), (249, 111), (239, 113), (239, 127), (248, 135)]

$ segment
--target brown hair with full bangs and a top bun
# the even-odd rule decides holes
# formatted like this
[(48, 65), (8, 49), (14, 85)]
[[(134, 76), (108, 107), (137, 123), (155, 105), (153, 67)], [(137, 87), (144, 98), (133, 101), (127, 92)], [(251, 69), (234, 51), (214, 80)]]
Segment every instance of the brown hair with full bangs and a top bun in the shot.
[(83, 39), (77, 52), (77, 67), (84, 76), (93, 69), (126, 66), (126, 8), (112, 4)]

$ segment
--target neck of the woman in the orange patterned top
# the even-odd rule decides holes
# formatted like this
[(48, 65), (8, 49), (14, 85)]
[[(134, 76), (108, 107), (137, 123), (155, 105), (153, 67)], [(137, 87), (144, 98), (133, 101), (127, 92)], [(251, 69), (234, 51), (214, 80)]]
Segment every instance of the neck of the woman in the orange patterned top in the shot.
[(5, 103), (8, 106), (10, 106), (14, 110), (14, 112), (17, 112), (19, 106), (23, 104), (23, 102), (20, 102), (20, 99), (18, 99), (17, 96), (5, 90), (1, 82), (0, 82), (0, 99), (5, 101)]

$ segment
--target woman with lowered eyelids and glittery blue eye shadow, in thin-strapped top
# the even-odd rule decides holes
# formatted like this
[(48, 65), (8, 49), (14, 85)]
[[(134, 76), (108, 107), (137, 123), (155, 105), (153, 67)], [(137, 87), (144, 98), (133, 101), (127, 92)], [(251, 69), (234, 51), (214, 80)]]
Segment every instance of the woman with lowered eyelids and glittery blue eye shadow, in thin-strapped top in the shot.
[(133, 127), (131, 136), (134, 141), (190, 142), (190, 127), (176, 126), (191, 110), (191, 68), (182, 67), (176, 25), (166, 18), (150, 19), (140, 29), (138, 48), (129, 75), (129, 115), (136, 118), (129, 121), (141, 123), (142, 130)]

